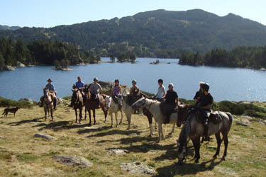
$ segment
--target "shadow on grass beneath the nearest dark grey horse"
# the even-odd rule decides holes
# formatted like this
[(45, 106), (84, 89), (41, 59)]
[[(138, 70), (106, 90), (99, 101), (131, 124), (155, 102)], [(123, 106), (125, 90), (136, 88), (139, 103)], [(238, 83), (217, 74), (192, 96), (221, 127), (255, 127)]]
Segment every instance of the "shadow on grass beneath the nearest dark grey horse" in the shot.
[[(157, 168), (157, 176), (184, 176), (184, 175), (196, 175), (196, 173), (203, 171), (211, 171), (214, 166), (221, 163), (221, 160), (211, 159), (204, 161), (201, 164), (187, 163), (183, 165), (177, 165), (176, 163), (170, 166), (163, 166)], [(155, 177), (154, 176), (154, 177)]]

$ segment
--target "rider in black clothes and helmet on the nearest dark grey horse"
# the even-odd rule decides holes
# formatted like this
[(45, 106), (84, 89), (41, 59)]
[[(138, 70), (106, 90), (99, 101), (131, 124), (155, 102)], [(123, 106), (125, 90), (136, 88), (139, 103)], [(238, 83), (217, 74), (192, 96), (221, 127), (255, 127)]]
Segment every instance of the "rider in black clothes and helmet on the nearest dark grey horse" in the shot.
[(208, 137), (208, 119), (211, 114), (211, 104), (214, 102), (214, 98), (209, 93), (209, 84), (201, 85), (203, 96), (199, 99), (199, 111), (204, 116), (204, 136)]

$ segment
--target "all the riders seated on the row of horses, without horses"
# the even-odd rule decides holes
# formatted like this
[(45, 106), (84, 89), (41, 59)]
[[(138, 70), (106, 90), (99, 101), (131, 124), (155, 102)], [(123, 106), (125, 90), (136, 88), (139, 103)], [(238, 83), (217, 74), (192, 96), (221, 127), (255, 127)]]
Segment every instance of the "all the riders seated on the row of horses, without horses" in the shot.
[[(139, 98), (141, 98), (140, 89), (136, 85), (137, 81), (132, 81), (132, 87), (131, 91), (128, 95), (129, 97), (129, 103), (132, 105), (135, 101), (138, 101)], [(168, 90), (165, 91), (165, 86), (163, 86), (162, 79), (158, 80), (158, 89), (156, 95), (153, 97), (157, 101), (162, 102), (161, 103), (161, 110), (162, 114), (165, 115), (165, 124), (170, 122), (170, 115), (173, 113), (174, 109), (179, 107), (179, 99), (177, 92), (174, 91), (174, 84), (170, 83), (168, 84)], [(89, 91), (85, 92), (85, 84), (82, 81), (82, 78), (80, 76), (77, 77), (77, 82), (75, 83), (75, 88), (79, 89), (81, 91), (82, 96), (84, 98), (89, 98), (89, 93), (92, 93), (94, 95), (94, 100), (99, 105), (100, 108), (100, 92), (102, 90), (101, 85), (98, 83), (98, 79), (94, 78), (93, 83), (89, 84)], [(56, 91), (55, 86), (52, 84), (52, 80), (48, 79), (48, 84), (45, 86), (50, 93), (53, 94), (55, 97), (54, 99), (54, 109), (56, 110), (57, 105), (57, 99), (56, 99)], [(118, 94), (121, 94), (121, 86), (119, 84), (119, 80), (116, 79), (114, 81), (113, 89), (111, 90), (110, 96), (112, 96), (113, 100), (116, 101), (116, 98)], [(41, 102), (43, 102), (41, 98)], [(204, 118), (204, 125), (208, 124), (208, 118), (211, 113), (211, 104), (214, 101), (214, 98), (211, 96), (211, 93), (209, 93), (209, 84), (204, 82), (199, 82), (199, 91), (196, 92), (194, 96), (195, 101), (195, 108), (196, 110), (199, 110), (202, 117)], [(204, 129), (204, 134), (206, 135), (208, 132), (207, 126)], [(208, 138), (208, 137), (207, 137)]]

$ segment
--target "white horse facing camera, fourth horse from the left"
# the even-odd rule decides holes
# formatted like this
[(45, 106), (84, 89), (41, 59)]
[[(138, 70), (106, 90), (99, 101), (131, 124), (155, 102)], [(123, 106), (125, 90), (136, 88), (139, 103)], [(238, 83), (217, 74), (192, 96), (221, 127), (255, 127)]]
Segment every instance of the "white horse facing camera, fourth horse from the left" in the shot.
[(104, 109), (109, 111), (109, 115), (111, 117), (111, 127), (113, 127), (113, 113), (116, 116), (116, 127), (118, 127), (118, 119), (117, 119), (118, 111), (121, 111), (121, 120), (120, 120), (119, 124), (121, 124), (121, 122), (123, 120), (123, 110), (119, 109), (120, 106), (121, 105), (119, 105), (118, 103), (115, 103), (113, 101), (113, 98), (111, 96), (106, 96)]

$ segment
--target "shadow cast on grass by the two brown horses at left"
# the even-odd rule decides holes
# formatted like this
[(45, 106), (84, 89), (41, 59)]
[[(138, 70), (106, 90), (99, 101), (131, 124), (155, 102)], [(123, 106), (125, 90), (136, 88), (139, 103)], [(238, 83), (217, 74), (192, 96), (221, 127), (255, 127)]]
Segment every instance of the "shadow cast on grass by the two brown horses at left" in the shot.
[(59, 122), (50, 122), (50, 123), (40, 123), (38, 125), (34, 125), (33, 127), (40, 127), (38, 130), (54, 130), (54, 131), (59, 131), (59, 130), (70, 130), (73, 128), (82, 128), (82, 127), (87, 127), (88, 124), (76, 124), (73, 123), (72, 121), (59, 121)]

